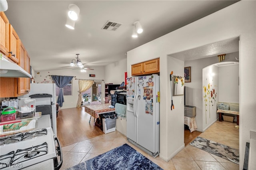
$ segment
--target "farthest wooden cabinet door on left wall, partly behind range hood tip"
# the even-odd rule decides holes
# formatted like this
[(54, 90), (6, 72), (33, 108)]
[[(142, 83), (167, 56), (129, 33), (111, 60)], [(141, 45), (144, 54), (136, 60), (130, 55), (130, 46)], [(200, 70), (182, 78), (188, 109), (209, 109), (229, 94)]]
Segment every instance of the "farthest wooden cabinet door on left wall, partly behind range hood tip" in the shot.
[[(25, 68), (25, 57), (26, 57), (26, 49), (22, 42), (20, 42), (20, 59), (19, 59), (19, 65), (22, 69)], [(22, 95), (23, 93), (26, 93), (26, 79), (24, 77), (18, 78), (18, 95)]]

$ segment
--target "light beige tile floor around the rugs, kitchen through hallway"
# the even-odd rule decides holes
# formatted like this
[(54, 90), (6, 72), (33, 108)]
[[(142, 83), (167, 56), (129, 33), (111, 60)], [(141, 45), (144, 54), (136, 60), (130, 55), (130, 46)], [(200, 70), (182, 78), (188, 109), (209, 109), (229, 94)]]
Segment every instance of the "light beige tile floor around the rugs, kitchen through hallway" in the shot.
[[(226, 144), (239, 149), (239, 129), (235, 123), (216, 121), (199, 136)], [(122, 144), (129, 144), (135, 150), (152, 160), (164, 170), (239, 170), (239, 165), (210, 154), (194, 146), (187, 145), (169, 162), (148, 155), (136, 146), (130, 144), (126, 136), (118, 131), (102, 134), (75, 144), (62, 147), (63, 164), (61, 170), (84, 162)]]

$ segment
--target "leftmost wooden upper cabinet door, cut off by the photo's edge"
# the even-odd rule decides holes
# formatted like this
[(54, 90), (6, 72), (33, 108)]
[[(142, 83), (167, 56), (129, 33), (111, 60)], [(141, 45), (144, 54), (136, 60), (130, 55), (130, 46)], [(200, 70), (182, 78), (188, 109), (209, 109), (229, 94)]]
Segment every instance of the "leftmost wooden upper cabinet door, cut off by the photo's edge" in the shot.
[(8, 56), (9, 50), (9, 21), (4, 14), (4, 12), (0, 12), (0, 51), (4, 53), (4, 55)]

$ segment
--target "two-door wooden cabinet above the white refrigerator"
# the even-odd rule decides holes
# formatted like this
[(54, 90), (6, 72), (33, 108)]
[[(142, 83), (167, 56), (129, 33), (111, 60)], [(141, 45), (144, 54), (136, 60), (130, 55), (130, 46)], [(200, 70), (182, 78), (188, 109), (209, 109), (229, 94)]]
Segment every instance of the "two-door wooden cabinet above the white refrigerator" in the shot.
[(152, 59), (142, 63), (132, 65), (132, 75), (149, 75), (160, 72), (160, 63), (158, 59)]

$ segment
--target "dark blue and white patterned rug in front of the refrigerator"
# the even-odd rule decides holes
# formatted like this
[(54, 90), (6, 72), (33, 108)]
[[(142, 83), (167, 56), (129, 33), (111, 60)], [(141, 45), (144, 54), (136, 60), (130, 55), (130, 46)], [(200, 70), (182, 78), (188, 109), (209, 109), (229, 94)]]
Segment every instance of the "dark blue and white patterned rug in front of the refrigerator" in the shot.
[(68, 170), (162, 170), (154, 162), (123, 144), (104, 154), (86, 160)]

